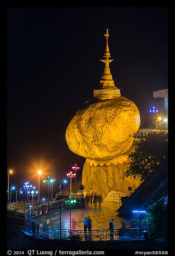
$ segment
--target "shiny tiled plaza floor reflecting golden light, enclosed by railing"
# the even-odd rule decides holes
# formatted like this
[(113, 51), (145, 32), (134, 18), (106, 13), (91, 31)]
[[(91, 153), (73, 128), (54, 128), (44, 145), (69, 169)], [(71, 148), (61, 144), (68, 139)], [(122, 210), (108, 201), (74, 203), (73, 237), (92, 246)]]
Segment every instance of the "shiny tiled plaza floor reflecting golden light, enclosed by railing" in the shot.
[[(92, 229), (108, 229), (110, 224), (110, 219), (114, 219), (115, 229), (121, 227), (121, 221), (124, 218), (117, 217), (117, 210), (121, 206), (120, 203), (115, 202), (103, 202), (101, 207), (97, 205), (89, 205), (86, 208), (71, 209), (71, 229), (72, 230), (83, 230), (83, 219), (85, 216), (90, 216), (92, 219)], [(47, 226), (54, 229), (60, 229), (60, 211), (55, 211), (52, 214), (40, 216), (38, 218), (38, 223), (43, 226)], [(61, 211), (61, 228), (70, 229), (70, 211)]]

